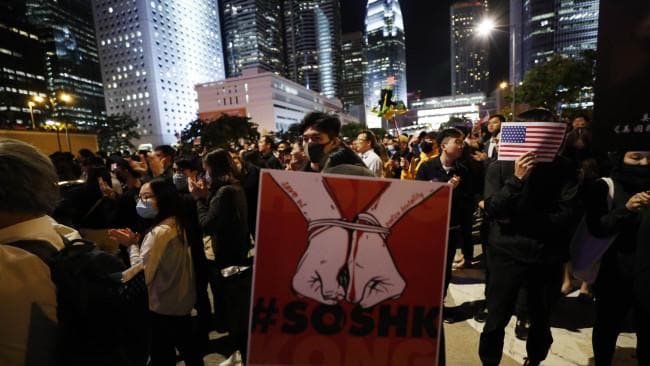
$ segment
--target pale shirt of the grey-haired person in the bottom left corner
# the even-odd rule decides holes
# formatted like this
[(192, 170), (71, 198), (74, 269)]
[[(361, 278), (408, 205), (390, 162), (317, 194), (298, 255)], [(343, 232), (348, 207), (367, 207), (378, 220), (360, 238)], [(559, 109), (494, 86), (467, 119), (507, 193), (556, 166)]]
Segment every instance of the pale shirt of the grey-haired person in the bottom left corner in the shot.
[(42, 240), (60, 250), (63, 240), (55, 225), (41, 216), (0, 229), (0, 365), (22, 366), (27, 359), (53, 364), (57, 319), (50, 269), (37, 256), (4, 244)]

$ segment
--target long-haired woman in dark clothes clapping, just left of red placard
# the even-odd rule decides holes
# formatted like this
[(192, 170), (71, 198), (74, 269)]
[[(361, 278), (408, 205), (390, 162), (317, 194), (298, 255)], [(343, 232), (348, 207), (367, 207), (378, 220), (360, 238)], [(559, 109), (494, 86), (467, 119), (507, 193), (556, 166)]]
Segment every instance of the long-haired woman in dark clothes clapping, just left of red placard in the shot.
[(205, 155), (203, 168), (205, 177), (190, 179), (189, 188), (197, 201), (203, 232), (212, 237), (215, 268), (211, 275), (223, 285), (225, 318), (232, 342), (232, 354), (222, 365), (232, 365), (238, 358), (236, 351), (246, 357), (248, 343), (252, 280), (248, 205), (240, 171), (228, 151), (216, 149)]

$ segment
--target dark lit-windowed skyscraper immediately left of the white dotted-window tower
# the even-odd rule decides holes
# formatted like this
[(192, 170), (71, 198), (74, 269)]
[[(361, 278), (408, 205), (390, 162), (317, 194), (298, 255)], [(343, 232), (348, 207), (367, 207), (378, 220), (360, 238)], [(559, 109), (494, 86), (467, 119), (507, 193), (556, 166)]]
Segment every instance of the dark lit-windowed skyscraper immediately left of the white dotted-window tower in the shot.
[(85, 0), (27, 0), (26, 16), (45, 51), (50, 97), (61, 92), (73, 103), (57, 103), (52, 117), (94, 129), (106, 118), (91, 4)]

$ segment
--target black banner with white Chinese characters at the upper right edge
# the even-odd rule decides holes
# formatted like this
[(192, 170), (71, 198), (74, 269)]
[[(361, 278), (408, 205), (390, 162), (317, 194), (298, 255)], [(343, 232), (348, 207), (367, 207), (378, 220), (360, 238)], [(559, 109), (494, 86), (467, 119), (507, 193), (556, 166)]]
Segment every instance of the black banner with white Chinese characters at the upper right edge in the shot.
[(650, 2), (601, 1), (594, 143), (650, 150)]

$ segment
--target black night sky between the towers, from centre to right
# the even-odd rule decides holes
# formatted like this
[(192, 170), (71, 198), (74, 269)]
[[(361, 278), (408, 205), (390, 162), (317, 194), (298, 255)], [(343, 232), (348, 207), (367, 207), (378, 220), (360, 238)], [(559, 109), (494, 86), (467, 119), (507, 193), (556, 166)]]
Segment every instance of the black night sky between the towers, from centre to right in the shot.
[[(363, 31), (367, 0), (341, 0), (343, 33)], [(406, 26), (408, 91), (422, 97), (451, 94), (449, 7), (453, 0), (400, 0)], [(497, 23), (508, 24), (508, 0), (489, 3)], [(508, 34), (495, 32), (490, 47), (490, 86), (508, 78)]]

